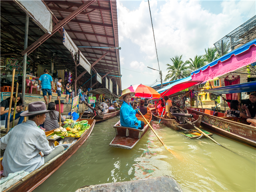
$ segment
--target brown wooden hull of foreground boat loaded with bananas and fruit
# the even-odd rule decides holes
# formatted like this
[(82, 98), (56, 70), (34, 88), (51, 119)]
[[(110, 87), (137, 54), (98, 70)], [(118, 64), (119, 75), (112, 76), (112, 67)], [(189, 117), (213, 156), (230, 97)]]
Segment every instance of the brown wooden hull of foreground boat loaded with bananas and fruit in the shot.
[[(64, 164), (64, 162), (66, 162), (66, 160), (68, 160), (68, 158), (70, 158), (78, 150), (78, 148), (82, 146), (82, 144), (90, 136), (94, 128), (94, 119), (79, 119), (77, 121), (81, 120), (88, 120), (88, 124), (90, 124), (91, 127), (86, 130), (74, 144), (72, 144), (68, 149), (64, 150), (58, 156), (54, 157), (52, 160), (46, 162), (30, 174), (16, 182), (14, 185), (10, 186), (4, 192), (31, 192), (40, 184), (42, 184), (58, 168), (60, 168), (60, 166), (62, 166), (62, 164)], [(53, 133), (53, 130), (46, 132), (46, 135), (49, 135), (51, 133)], [(3, 170), (2, 159), (0, 160), (0, 165), (0, 170)]]

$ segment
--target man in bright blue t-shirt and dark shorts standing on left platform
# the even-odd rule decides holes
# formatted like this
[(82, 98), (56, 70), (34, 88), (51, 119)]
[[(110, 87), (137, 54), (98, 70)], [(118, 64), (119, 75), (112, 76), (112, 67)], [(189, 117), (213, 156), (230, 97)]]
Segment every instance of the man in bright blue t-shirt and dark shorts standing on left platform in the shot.
[[(42, 86), (41, 86), (41, 82), (42, 82)], [(40, 76), (39, 80), (38, 80), (38, 84), (39, 84), (39, 89), (42, 88), (42, 92), (43, 92), (43, 97), (44, 100), (46, 102), (46, 105), (48, 104), (47, 102), (47, 93), (49, 96), (49, 102), (51, 102), (52, 99), (52, 88), (53, 88), (53, 81), (52, 81), (52, 76), (50, 76), (48, 74), (48, 70), (45, 69), (44, 70), (44, 74)]]

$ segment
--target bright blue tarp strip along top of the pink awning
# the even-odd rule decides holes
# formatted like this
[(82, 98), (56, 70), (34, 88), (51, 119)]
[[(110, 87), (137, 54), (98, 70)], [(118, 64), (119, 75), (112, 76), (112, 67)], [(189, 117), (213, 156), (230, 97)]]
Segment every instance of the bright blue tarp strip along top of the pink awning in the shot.
[(224, 56), (218, 58), (217, 60), (214, 60), (213, 62), (210, 62), (209, 64), (207, 64), (207, 65), (205, 65), (205, 66), (202, 66), (202, 67), (199, 68), (198, 70), (195, 70), (194, 72), (192, 72), (191, 75), (199, 73), (200, 70), (202, 70), (202, 71), (203, 71), (203, 70), (206, 70), (206, 69), (208, 68), (208, 66), (214, 66), (214, 65), (216, 65), (216, 64), (218, 63), (218, 61), (221, 61), (221, 62), (222, 62), (222, 61), (227, 60), (227, 59), (230, 58), (231, 55), (233, 55), (233, 54), (234, 54), (234, 55), (238, 55), (238, 54), (240, 54), (240, 53), (242, 53), (242, 52), (248, 50), (248, 49), (250, 48), (250, 46), (253, 45), (253, 44), (256, 44), (256, 39), (254, 39), (254, 40), (252, 40), (251, 42), (248, 42), (248, 43), (244, 44), (243, 46), (241, 46), (241, 47), (239, 47), (239, 48), (237, 48), (237, 49), (235, 49), (235, 50), (229, 52), (228, 54), (226, 54), (226, 55), (224, 55)]

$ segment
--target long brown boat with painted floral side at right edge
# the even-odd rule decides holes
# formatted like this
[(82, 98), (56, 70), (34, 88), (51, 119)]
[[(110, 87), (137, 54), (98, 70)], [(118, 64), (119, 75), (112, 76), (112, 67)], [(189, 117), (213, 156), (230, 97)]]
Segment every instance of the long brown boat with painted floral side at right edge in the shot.
[(211, 110), (202, 110), (201, 108), (187, 108), (187, 110), (188, 113), (202, 115), (202, 127), (236, 141), (256, 147), (256, 127), (250, 126), (245, 119), (234, 117), (224, 118), (224, 113), (214, 113)]

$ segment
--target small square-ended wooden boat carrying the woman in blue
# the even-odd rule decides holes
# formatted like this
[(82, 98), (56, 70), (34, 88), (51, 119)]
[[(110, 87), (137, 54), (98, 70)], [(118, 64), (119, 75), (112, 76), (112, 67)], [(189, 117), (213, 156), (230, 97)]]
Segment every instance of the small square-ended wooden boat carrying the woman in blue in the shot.
[[(120, 121), (118, 121), (113, 127), (116, 131), (116, 136), (109, 144), (111, 147), (123, 148), (123, 149), (132, 149), (134, 146), (140, 141), (140, 139), (144, 136), (146, 131), (148, 130), (148, 124), (146, 121), (136, 115), (137, 119), (143, 121), (145, 126), (142, 130), (130, 127), (121, 126)], [(152, 120), (151, 111), (148, 108), (148, 113), (144, 116), (148, 122)]]

